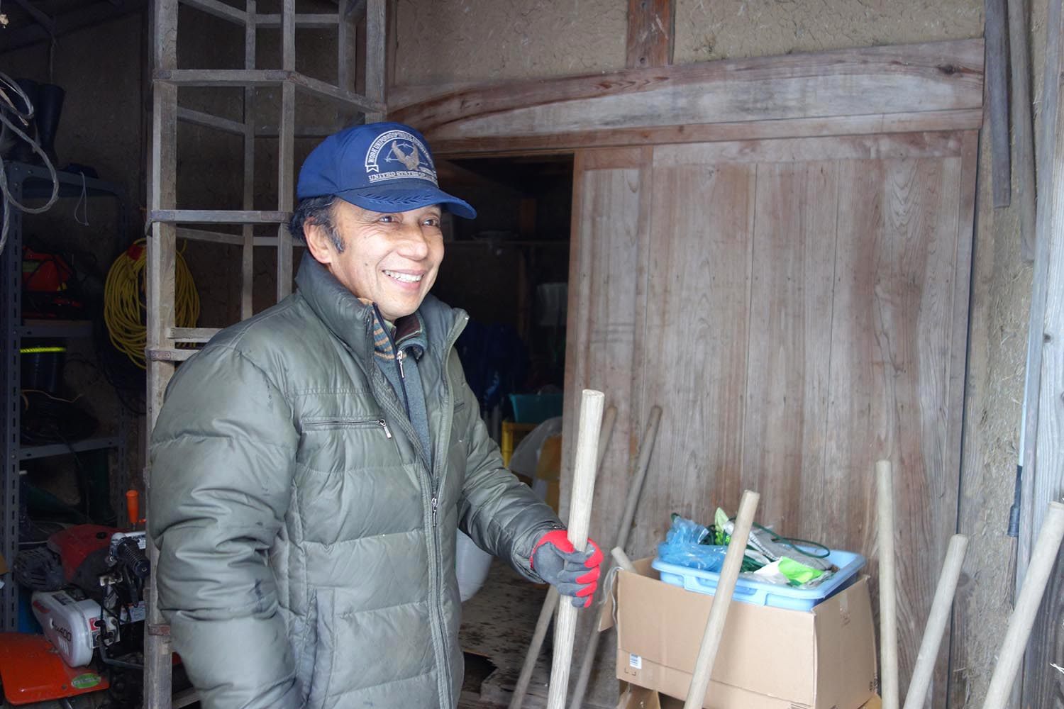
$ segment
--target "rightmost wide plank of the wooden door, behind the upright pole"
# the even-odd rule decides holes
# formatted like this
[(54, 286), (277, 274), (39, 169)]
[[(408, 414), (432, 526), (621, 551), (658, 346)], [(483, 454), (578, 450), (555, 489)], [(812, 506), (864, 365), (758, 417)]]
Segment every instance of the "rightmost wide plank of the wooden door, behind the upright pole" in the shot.
[[(826, 472), (841, 504), (825, 533), (869, 556), (876, 572), (872, 463), (890, 458), (902, 551), (902, 686), (957, 519), (960, 439), (952, 424), (962, 400), (953, 369), (966, 331), (955, 322), (954, 298), (957, 273), (967, 277), (967, 264), (957, 264), (961, 165), (957, 156), (841, 168)], [(945, 679), (943, 659), (932, 690), (938, 699)]]

